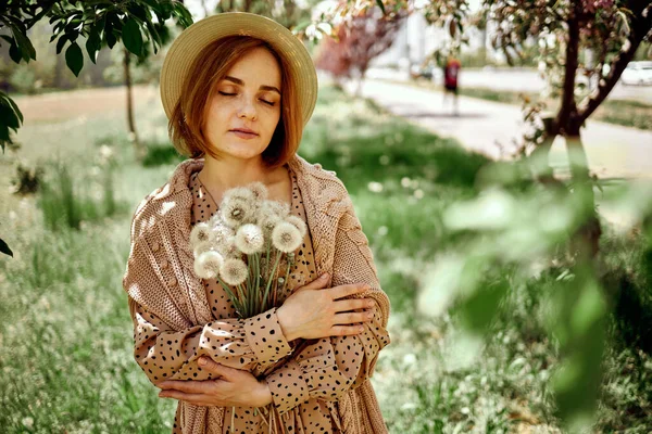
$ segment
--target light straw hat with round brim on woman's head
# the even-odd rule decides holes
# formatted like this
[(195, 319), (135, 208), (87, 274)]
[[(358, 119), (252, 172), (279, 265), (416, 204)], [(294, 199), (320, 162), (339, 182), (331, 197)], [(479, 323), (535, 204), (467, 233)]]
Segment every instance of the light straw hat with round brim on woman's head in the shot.
[(267, 17), (246, 12), (226, 12), (200, 20), (174, 40), (161, 69), (161, 101), (167, 118), (172, 116), (195, 59), (211, 42), (234, 35), (262, 39), (287, 61), (305, 125), (317, 101), (317, 74), (308, 50), (286, 27)]

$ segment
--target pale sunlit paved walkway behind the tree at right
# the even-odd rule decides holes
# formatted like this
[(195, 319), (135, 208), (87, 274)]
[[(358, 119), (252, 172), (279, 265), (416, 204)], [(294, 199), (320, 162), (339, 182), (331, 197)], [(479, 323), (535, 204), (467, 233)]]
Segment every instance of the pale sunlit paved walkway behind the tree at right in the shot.
[[(355, 84), (349, 86), (352, 90)], [(452, 101), (444, 108), (441, 92), (375, 79), (363, 84), (362, 95), (492, 158), (501, 157), (501, 146), (513, 149), (524, 131), (516, 105), (460, 97), (460, 116), (453, 116)], [(652, 131), (589, 122), (582, 140), (590, 169), (600, 178), (652, 178)], [(553, 144), (550, 164), (560, 170), (567, 166), (561, 138)]]

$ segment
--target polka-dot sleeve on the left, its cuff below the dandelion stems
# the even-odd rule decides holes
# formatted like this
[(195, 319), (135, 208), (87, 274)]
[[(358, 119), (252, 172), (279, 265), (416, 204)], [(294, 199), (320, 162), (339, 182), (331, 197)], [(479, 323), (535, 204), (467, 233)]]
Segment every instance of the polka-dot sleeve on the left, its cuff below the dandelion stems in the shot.
[[(126, 285), (151, 285), (156, 282), (164, 286), (151, 264), (139, 256), (138, 245), (135, 245), (130, 255), (129, 268), (138, 272), (127, 272)], [(135, 261), (140, 261), (137, 267), (133, 266)], [(161, 288), (160, 293), (168, 290)], [(197, 365), (201, 356), (211, 357), (231, 368), (251, 371), (256, 365), (269, 365), (292, 350), (281, 332), (276, 308), (244, 320), (220, 319), (183, 330), (172, 328), (130, 296), (129, 310), (134, 321), (134, 356), (154, 384), (163, 380), (210, 379), (211, 374)]]

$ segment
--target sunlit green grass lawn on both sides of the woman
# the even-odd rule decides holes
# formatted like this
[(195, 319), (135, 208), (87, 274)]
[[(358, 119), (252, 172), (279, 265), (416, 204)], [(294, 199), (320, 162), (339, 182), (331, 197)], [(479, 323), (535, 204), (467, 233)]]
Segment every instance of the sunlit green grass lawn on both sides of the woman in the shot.
[[(24, 140), (26, 153), (51, 162), (65, 149), (74, 176), (58, 178), (46, 165), (51, 183), (68, 179), (73, 187), (66, 194), (98, 209), (105, 209), (103, 197), (110, 195), (134, 210), (176, 162), (172, 151), (156, 149), (164, 143), (162, 113), (140, 107), (137, 118), (141, 137), (153, 143), (154, 163), (146, 167), (134, 162), (117, 116), (88, 119), (83, 140), (72, 131), (78, 127), (53, 128), (48, 155)], [(25, 137), (43, 140), (42, 129), (37, 135), (29, 128)], [(103, 183), (93, 169), (100, 167), (101, 145), (113, 150), (113, 183)], [(336, 170), (346, 183), (392, 303), (392, 343), (373, 378), (390, 432), (560, 432), (549, 385), (559, 354), (543, 329), (541, 295), (556, 288), (554, 273), (514, 282), (487, 332), (481, 361), (462, 362), (465, 342), (453, 312), (414, 314), (432, 258), (464, 241), (464, 233), (446, 229), (444, 209), (477, 194), (476, 174), (486, 158), (333, 88), (321, 90), (300, 153)], [(73, 157), (85, 164), (72, 164)], [(89, 191), (75, 190), (82, 184)], [(130, 212), (101, 212), (100, 218), (79, 212), (78, 229), (60, 225), (52, 230), (48, 212), (35, 199), (2, 197), (5, 191), (0, 189), (0, 203), (7, 204), (0, 207), (15, 216), (2, 229), (9, 230), (15, 258), (0, 260), (1, 431), (170, 432), (175, 404), (156, 397), (131, 356), (131, 320), (121, 282)], [(58, 203), (52, 209), (62, 208)], [(642, 251), (632, 245), (640, 240), (604, 238), (610, 269), (636, 268)], [(650, 432), (650, 357), (636, 342), (614, 341), (603, 363), (595, 432)]]

